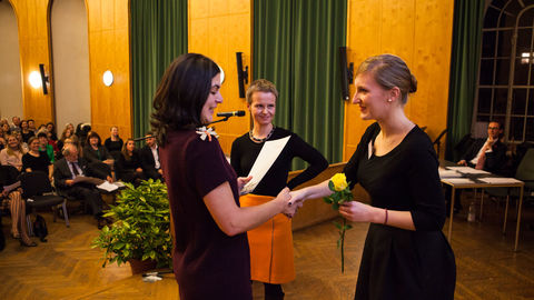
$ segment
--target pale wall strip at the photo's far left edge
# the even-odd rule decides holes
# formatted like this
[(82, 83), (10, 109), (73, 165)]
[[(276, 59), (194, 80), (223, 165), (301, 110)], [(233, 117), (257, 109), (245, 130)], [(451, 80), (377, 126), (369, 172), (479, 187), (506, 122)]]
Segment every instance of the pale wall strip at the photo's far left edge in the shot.
[(23, 118), (19, 31), (9, 1), (0, 2), (0, 117)]

